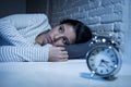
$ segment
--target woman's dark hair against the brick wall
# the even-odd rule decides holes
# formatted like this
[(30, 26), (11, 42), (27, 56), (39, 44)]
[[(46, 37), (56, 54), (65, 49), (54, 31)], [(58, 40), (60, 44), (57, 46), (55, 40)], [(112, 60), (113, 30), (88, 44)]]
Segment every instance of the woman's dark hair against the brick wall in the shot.
[(80, 21), (68, 18), (68, 20), (61, 21), (60, 24), (68, 24), (73, 26), (76, 33), (75, 44), (86, 42), (92, 38), (91, 28)]

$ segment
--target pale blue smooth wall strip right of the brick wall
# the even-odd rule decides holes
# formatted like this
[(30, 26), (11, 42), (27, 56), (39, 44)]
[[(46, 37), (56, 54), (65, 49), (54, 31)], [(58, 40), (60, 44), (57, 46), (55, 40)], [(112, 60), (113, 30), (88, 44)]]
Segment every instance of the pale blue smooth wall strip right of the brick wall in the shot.
[(126, 34), (124, 34), (124, 57), (126, 60), (128, 61), (128, 63), (131, 63), (131, 0), (127, 0), (126, 2), (126, 13), (127, 15), (124, 15), (124, 20), (126, 20)]

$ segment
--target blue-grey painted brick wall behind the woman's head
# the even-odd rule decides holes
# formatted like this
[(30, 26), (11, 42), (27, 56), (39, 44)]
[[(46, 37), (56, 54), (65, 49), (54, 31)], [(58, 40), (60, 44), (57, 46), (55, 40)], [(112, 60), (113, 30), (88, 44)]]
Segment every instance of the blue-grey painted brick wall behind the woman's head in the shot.
[[(123, 0), (51, 0), (51, 24), (70, 17), (84, 22), (93, 32), (121, 30)], [(122, 35), (121, 35), (122, 36)], [(120, 37), (119, 37), (120, 38)]]

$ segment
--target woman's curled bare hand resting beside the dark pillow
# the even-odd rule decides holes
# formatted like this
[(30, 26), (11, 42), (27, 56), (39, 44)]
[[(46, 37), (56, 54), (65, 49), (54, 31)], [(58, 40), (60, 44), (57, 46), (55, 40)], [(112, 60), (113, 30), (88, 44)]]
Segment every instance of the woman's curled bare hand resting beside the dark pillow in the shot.
[(64, 62), (68, 61), (68, 51), (64, 47), (50, 47), (49, 48), (49, 62)]

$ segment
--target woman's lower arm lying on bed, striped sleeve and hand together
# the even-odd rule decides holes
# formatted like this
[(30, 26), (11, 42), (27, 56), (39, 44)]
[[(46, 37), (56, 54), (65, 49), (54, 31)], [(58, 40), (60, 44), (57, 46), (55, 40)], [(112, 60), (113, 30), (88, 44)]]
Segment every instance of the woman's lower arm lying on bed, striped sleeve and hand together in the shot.
[(68, 52), (63, 47), (37, 46), (1, 46), (0, 62), (63, 62), (68, 61)]

